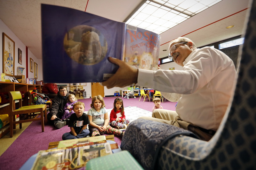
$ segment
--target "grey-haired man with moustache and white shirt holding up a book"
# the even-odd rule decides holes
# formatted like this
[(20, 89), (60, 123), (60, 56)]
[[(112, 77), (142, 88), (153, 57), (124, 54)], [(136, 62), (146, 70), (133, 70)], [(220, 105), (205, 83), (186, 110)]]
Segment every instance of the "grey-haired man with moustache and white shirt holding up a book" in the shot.
[(184, 37), (172, 40), (169, 52), (183, 70), (134, 69), (110, 57), (109, 61), (119, 69), (102, 85), (112, 88), (135, 83), (161, 91), (169, 101), (179, 101), (176, 112), (156, 109), (152, 117), (142, 118), (190, 130), (208, 141), (218, 129), (234, 91), (234, 63), (223, 52), (210, 47), (196, 48), (193, 41)]

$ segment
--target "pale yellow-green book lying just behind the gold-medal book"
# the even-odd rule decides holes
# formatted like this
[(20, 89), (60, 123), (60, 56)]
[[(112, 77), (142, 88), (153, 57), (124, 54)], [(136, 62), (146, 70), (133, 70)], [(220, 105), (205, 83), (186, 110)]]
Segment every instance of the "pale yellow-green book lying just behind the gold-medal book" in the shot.
[(100, 141), (106, 141), (106, 136), (100, 135), (95, 137), (83, 137), (78, 139), (62, 140), (59, 142), (58, 148), (65, 148), (69, 146), (84, 144), (87, 142), (100, 142)]

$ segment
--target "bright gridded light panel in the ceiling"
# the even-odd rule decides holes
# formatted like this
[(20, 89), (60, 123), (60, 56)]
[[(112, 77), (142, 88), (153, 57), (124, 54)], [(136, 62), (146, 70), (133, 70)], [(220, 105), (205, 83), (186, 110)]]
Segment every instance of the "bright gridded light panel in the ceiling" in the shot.
[(222, 0), (147, 0), (124, 22), (161, 34), (220, 1)]

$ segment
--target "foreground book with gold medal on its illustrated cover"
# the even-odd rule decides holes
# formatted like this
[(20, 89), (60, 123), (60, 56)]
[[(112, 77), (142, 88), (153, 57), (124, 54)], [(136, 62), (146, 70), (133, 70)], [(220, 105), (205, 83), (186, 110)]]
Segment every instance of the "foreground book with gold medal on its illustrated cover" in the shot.
[(33, 170), (85, 169), (90, 159), (112, 154), (109, 143), (39, 151)]

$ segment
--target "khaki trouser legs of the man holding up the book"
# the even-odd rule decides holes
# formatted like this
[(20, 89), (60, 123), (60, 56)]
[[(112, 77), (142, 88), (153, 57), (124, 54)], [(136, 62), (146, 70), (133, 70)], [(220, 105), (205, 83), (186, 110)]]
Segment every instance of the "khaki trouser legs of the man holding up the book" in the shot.
[(179, 116), (175, 111), (166, 110), (166, 109), (156, 109), (154, 110), (152, 117), (140, 117), (139, 119), (147, 119), (151, 121), (161, 122), (177, 126), (182, 128), (180, 124), (176, 121), (176, 117)]

